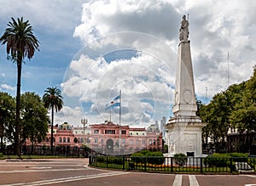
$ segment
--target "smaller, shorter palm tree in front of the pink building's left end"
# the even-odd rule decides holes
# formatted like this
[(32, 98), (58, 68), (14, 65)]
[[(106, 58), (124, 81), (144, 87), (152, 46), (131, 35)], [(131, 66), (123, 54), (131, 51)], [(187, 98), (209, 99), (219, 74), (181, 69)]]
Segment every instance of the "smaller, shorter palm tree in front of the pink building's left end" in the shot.
[(45, 108), (51, 110), (51, 126), (50, 126), (50, 151), (53, 153), (53, 123), (54, 123), (54, 109), (60, 111), (62, 109), (61, 90), (57, 87), (48, 87), (44, 91), (43, 96)]

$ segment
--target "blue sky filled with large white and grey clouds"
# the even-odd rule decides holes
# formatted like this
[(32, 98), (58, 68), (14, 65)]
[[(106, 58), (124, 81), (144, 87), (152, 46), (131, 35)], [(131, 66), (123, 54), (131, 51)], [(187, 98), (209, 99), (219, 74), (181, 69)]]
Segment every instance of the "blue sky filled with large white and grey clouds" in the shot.
[[(256, 2), (177, 0), (1, 1), (1, 35), (11, 17), (29, 20), (40, 51), (22, 69), (21, 91), (58, 87), (55, 123), (109, 120), (121, 90), (121, 124), (145, 127), (172, 116), (178, 29), (189, 14), (195, 93), (202, 103), (253, 74)], [(228, 57), (229, 54), (229, 57)], [(16, 66), (0, 46), (0, 91), (15, 96)], [(119, 123), (119, 109), (111, 111)]]

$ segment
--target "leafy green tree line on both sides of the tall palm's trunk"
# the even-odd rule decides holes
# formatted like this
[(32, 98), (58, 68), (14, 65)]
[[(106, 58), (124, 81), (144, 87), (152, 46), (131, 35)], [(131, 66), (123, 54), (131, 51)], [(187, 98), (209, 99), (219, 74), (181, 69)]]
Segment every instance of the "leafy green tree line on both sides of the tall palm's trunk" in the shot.
[[(30, 139), (34, 144), (44, 140), (48, 132), (49, 116), (43, 100), (36, 93), (24, 93), (20, 96), (20, 146)], [(1, 149), (3, 139), (15, 141), (15, 98), (0, 92), (0, 137)]]

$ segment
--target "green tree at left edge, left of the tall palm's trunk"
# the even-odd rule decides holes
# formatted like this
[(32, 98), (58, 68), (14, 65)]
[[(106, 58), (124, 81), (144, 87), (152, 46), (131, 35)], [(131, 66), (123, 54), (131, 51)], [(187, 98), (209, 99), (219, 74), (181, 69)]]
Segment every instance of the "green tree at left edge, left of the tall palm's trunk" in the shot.
[[(14, 130), (12, 130), (15, 118), (15, 99), (8, 93), (0, 92), (0, 152), (3, 151), (3, 138), (13, 141)], [(9, 134), (9, 135), (8, 135)]]

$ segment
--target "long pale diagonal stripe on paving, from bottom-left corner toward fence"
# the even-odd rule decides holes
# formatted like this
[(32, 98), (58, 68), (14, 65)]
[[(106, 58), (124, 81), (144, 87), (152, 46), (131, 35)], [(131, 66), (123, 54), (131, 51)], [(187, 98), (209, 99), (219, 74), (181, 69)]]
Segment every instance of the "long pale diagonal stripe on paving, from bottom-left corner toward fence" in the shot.
[(38, 181), (38, 182), (32, 182), (32, 183), (4, 184), (1, 186), (15, 186), (15, 185), (37, 186), (37, 185), (47, 185), (47, 184), (54, 184), (54, 183), (67, 183), (67, 182), (92, 179), (92, 178), (104, 178), (104, 177), (119, 176), (119, 175), (124, 175), (124, 174), (129, 174), (129, 173), (130, 172), (108, 172), (108, 173), (93, 174), (93, 175), (86, 175), (86, 176), (79, 176), (79, 177), (49, 179), (49, 180), (43, 180), (43, 181)]

